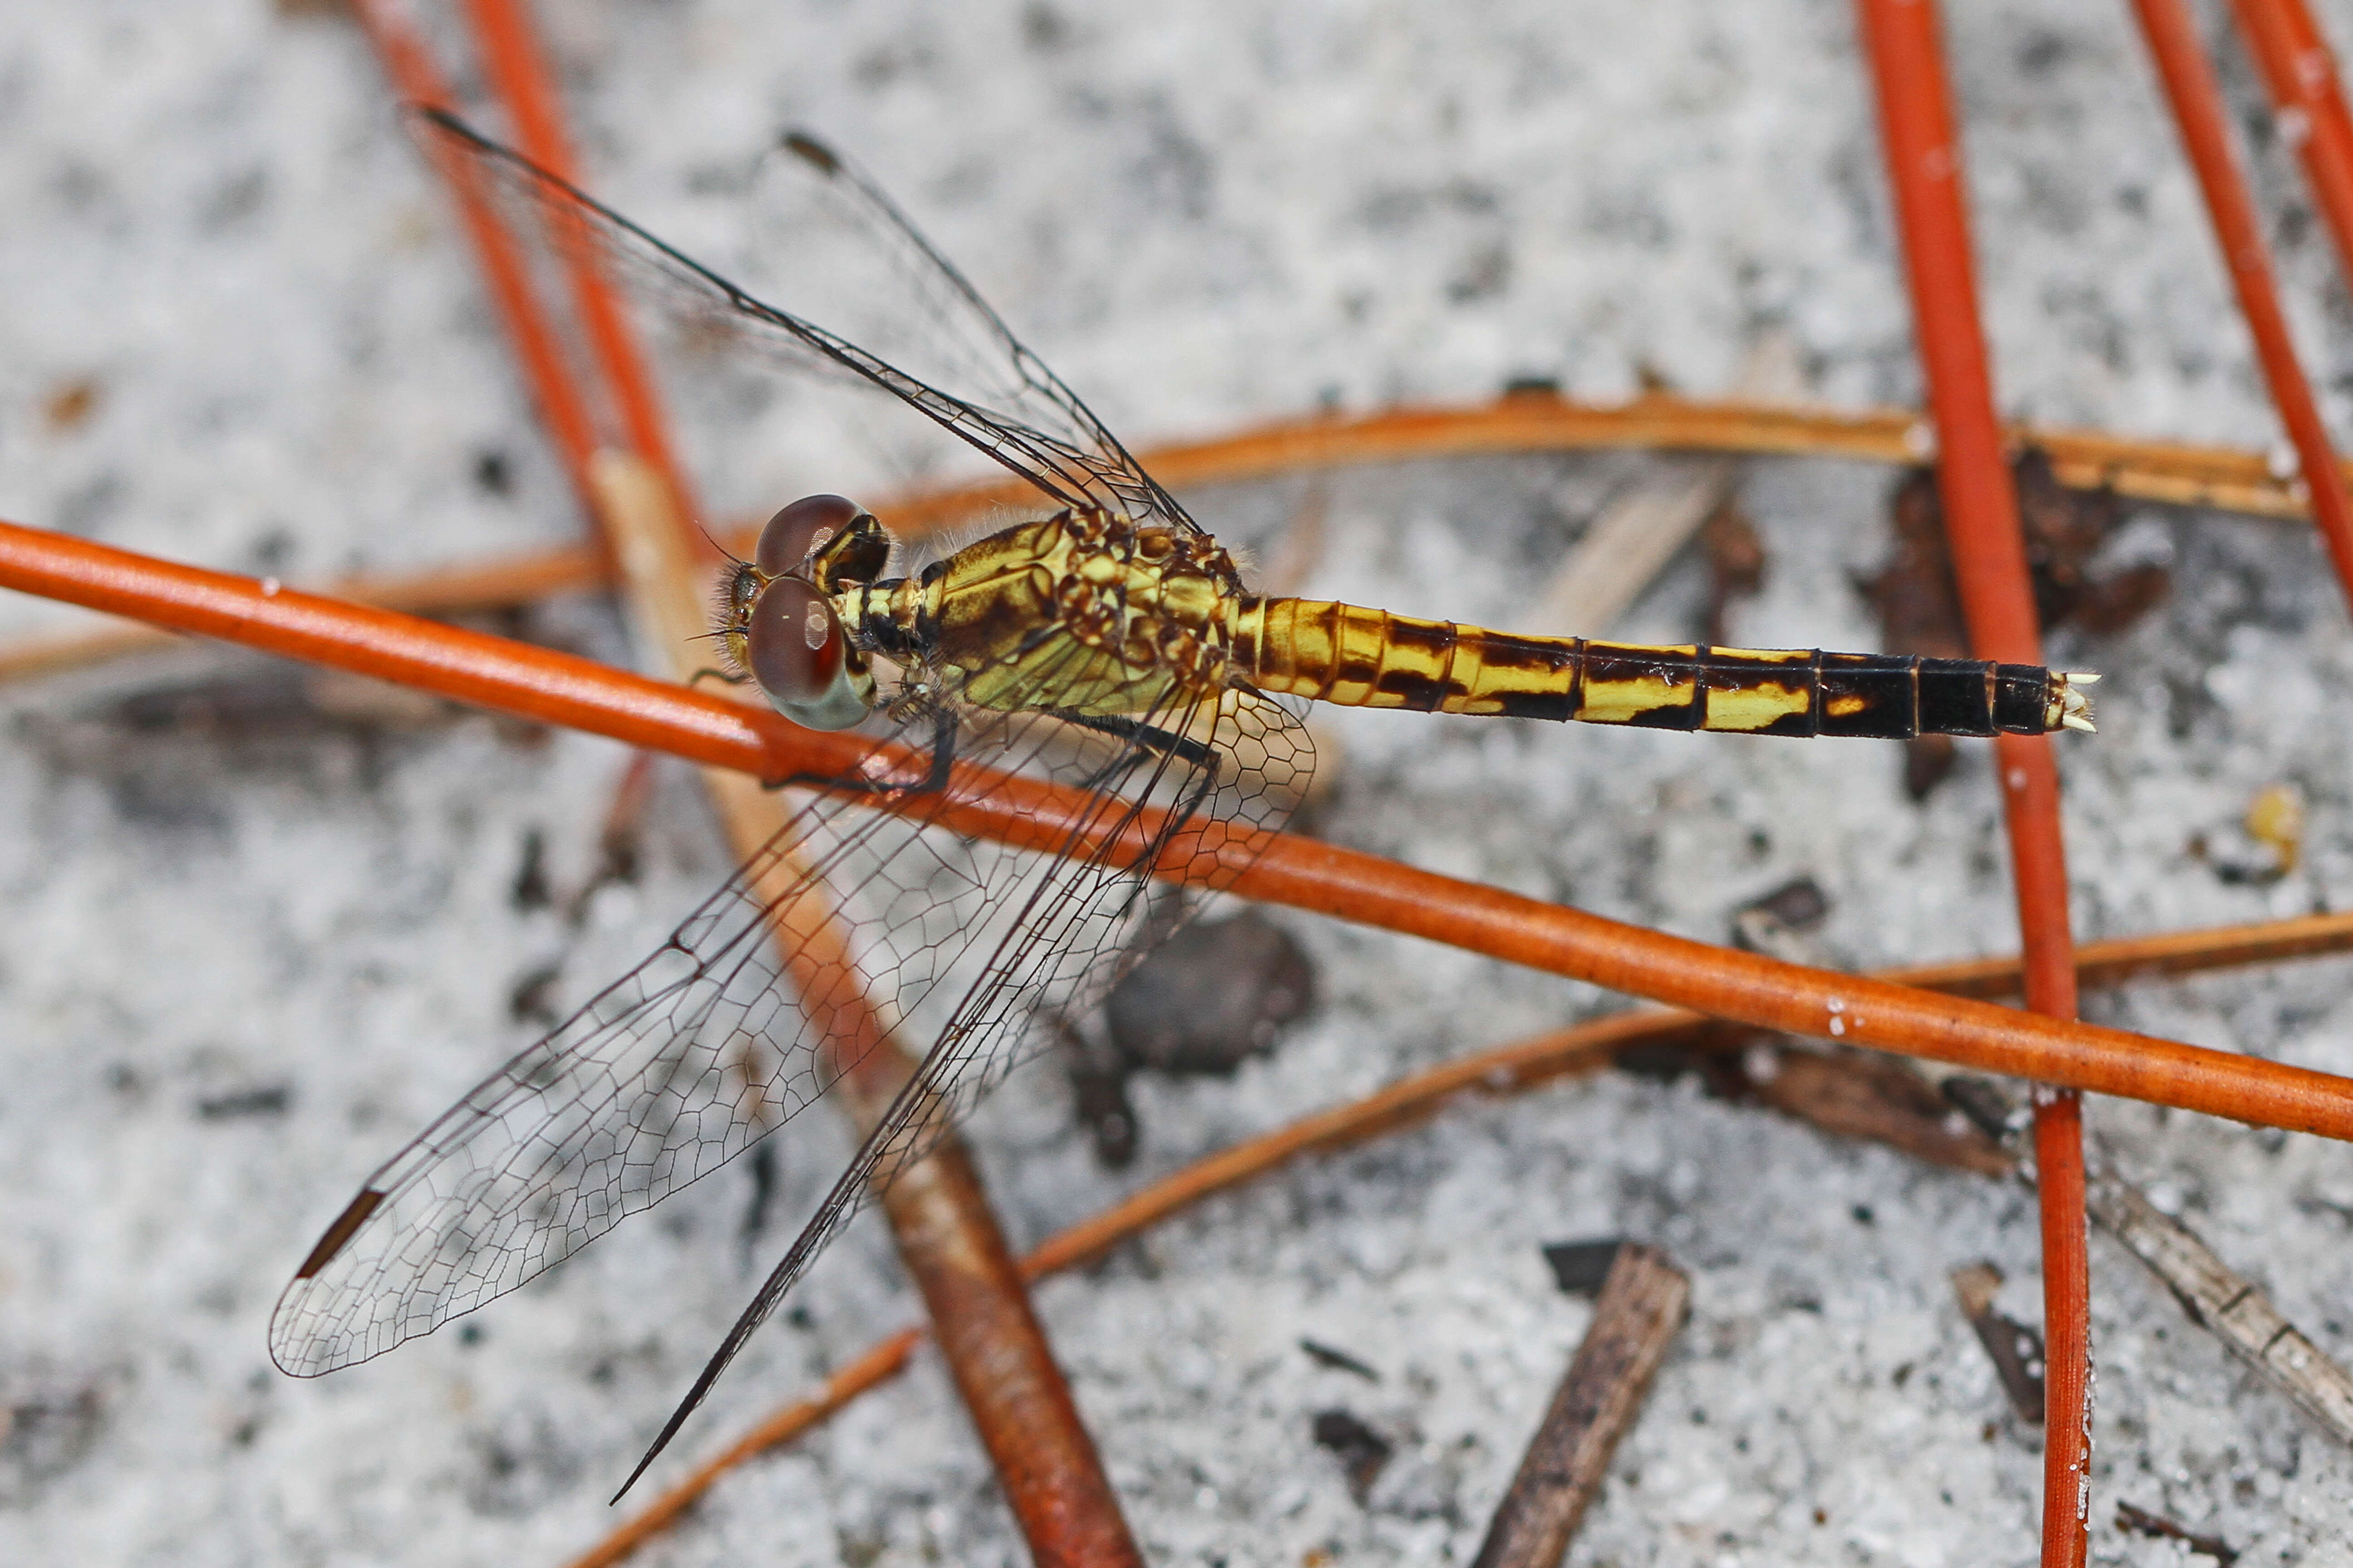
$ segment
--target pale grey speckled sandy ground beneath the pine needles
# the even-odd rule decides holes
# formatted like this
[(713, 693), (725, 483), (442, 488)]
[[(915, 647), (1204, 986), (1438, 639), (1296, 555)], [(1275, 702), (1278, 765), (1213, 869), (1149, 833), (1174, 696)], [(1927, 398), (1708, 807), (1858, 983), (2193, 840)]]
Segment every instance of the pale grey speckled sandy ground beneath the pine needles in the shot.
[[(1645, 369), (1713, 390), (1767, 327), (1831, 402), (1918, 397), (1842, 5), (548, 9), (584, 165), (619, 205), (732, 254), (729, 172), (776, 127), (814, 125), (1139, 442), (1525, 374), (1593, 397)], [(2329, 9), (2353, 38), (2353, 12)], [(2273, 442), (2125, 9), (1955, 7), (1951, 26), (2005, 407)], [(2235, 49), (2226, 73), (2348, 430), (2334, 263)], [(0, 14), (0, 515), (289, 581), (576, 536), (346, 24), (228, 2)], [(889, 440), (812, 451), (758, 397), (675, 393), (720, 515), (913, 477)], [(1346, 475), (1308, 588), (1511, 625), (1652, 468)], [(1873, 646), (1849, 578), (1885, 552), (1889, 482), (1746, 473), (1772, 578), (1741, 639)], [(1271, 541), (1301, 487), (1188, 501)], [(2344, 905), (2353, 644), (2318, 550), (2294, 527), (2158, 508), (2129, 538), (2172, 559), (2172, 604), (2054, 646), (2111, 677), (2099, 738), (2064, 743), (2080, 931)], [(1614, 630), (1682, 639), (1697, 616), (1685, 564)], [(0, 630), (64, 621), (0, 604)], [(628, 658), (598, 602), (525, 630)], [(153, 722), (151, 693), (224, 677), (245, 693), (235, 722)], [(0, 698), (0, 1561), (553, 1566), (612, 1521), (605, 1495), (842, 1154), (805, 1119), (755, 1234), (751, 1175), (729, 1171), (466, 1331), (280, 1378), (264, 1324), (287, 1272), (360, 1175), (532, 1039), (515, 987), (555, 966), (551, 994), (586, 997), (725, 872), (692, 778), (664, 771), (635, 886), (576, 926), (518, 907), (534, 837), (558, 905), (588, 877), (619, 750), (438, 710), (320, 717), (292, 679), (188, 654)], [(1824, 940), (1854, 966), (2014, 940), (1981, 752), (1913, 806), (1880, 745), (1325, 722), (1344, 752), (1325, 832), (1353, 846), (1711, 940), (1741, 900), (1812, 875), (1833, 898)], [(2226, 842), (2280, 780), (2311, 804), (2306, 860), (2224, 882), (2193, 837)], [(974, 1143), (1016, 1241), (1249, 1131), (1621, 1004), (1285, 924), (1320, 964), (1320, 1011), (1231, 1081), (1146, 1084), (1132, 1171), (1096, 1168), (1054, 1072), (991, 1103)], [(2346, 980), (2304, 964), (2089, 1006), (2353, 1072)], [(2353, 1157), (2146, 1107), (2092, 1121), (2353, 1354)], [(1153, 1561), (1466, 1561), (1588, 1314), (1537, 1246), (1617, 1232), (1673, 1251), (1694, 1314), (1572, 1561), (2033, 1561), (2038, 1436), (2005, 1413), (1946, 1284), (1991, 1258), (2002, 1305), (2035, 1319), (2031, 1199), (1689, 1084), (1605, 1077), (1454, 1110), (1219, 1199), (1047, 1284), (1040, 1307)], [(915, 1309), (861, 1225), (682, 1450)], [(2120, 1500), (2240, 1561), (2353, 1561), (2353, 1455), (2104, 1239), (2094, 1314), (2094, 1561), (2179, 1561), (2111, 1528)], [(1301, 1335), (1379, 1382), (1318, 1366)], [(1395, 1443), (1362, 1502), (1311, 1443), (1329, 1408)], [(922, 1356), (645, 1561), (1021, 1556)]]

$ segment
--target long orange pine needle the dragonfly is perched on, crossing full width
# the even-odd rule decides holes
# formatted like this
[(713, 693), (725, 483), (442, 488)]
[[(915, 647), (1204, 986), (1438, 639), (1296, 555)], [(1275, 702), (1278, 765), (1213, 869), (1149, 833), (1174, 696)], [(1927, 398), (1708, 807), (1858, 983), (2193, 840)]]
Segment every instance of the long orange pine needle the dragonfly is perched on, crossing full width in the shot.
[[(224, 637), (758, 778), (840, 776), (864, 755), (852, 736), (800, 729), (772, 712), (572, 654), (7, 522), (0, 522), (0, 588)], [(1080, 820), (1071, 816), (1078, 802), (1068, 795), (979, 769), (960, 771), (948, 790), (941, 820), (955, 832), (1054, 849)], [(1129, 832), (1141, 844), (1148, 825)], [(1195, 853), (1200, 844), (1188, 835), (1169, 849), (1172, 863)], [(2353, 1079), (1781, 964), (1313, 839), (1268, 839), (1233, 891), (1762, 1030), (2353, 1140)]]

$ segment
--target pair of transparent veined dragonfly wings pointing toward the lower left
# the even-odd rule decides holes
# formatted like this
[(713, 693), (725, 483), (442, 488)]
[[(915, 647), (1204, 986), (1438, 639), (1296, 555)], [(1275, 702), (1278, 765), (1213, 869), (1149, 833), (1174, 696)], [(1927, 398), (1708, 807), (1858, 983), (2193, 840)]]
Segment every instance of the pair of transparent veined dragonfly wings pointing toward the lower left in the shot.
[[(939, 715), (948, 788), (819, 795), (645, 964), (369, 1175), (278, 1302), (278, 1366), (348, 1366), (513, 1291), (788, 1124), (892, 1034), (922, 1065), (682, 1420), (866, 1194), (1033, 1048), (1038, 1011), (1092, 1004), (1139, 936), (1176, 924), (1146, 919), (1146, 875), (1224, 884), (1313, 769), (1297, 719), (1242, 691), (1113, 731)], [(866, 776), (920, 780), (936, 722), (904, 719)], [(974, 790), (1040, 783), (1082, 802), (1047, 849), (946, 825)]]

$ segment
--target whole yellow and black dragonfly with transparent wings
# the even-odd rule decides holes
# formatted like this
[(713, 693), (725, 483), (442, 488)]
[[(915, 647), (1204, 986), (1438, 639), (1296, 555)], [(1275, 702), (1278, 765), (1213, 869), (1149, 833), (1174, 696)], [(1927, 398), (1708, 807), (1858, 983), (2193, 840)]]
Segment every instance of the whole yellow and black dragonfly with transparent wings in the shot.
[[(652, 957), (362, 1182), (273, 1312), (292, 1375), (487, 1305), (791, 1124), (880, 1034), (920, 1041), (635, 1483), (824, 1246), (1285, 827), (1315, 769), (1306, 701), (1746, 736), (2092, 729), (2097, 677), (2040, 665), (1534, 637), (1252, 595), (831, 146), (795, 132), (769, 158), (795, 277), (807, 252), (845, 280), (821, 322), (449, 113), (412, 125), (701, 350), (880, 390), (1026, 480), (1038, 515), (892, 576), (906, 555), (873, 512), (805, 496), (729, 564), (713, 637), (734, 677), (798, 724), (856, 731), (864, 759), (788, 780), (791, 820)], [(958, 802), (1024, 790), (1059, 802), (1028, 842), (962, 830)]]

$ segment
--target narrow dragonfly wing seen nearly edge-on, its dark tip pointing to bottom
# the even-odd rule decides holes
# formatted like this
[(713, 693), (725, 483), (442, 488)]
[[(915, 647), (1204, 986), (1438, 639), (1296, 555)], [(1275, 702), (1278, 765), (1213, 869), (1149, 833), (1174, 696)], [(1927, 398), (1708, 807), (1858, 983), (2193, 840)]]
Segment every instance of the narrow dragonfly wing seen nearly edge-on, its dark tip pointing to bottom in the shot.
[[(1289, 820), (1315, 769), (1315, 748), (1299, 719), (1254, 691), (1207, 693), (1141, 715), (1139, 724), (1186, 745), (1132, 736), (1106, 750), (1099, 733), (1045, 715), (1014, 722), (1031, 731), (1052, 726), (1054, 733), (1035, 736), (1042, 743), (1024, 741), (1024, 771), (1092, 788), (1085, 818), (1054, 853), (1024, 856), (1028, 865), (991, 907), (988, 933), (972, 947), (979, 959), (972, 983), (936, 1041), (671, 1413), (624, 1493), (826, 1244), (1007, 1072), (1049, 1044), (1056, 1016), (1096, 1006), (1136, 959), (1191, 917), (1202, 893), (1233, 882)], [(1141, 851), (1122, 832), (1129, 825), (1141, 832)], [(1174, 907), (1148, 903), (1153, 875), (1174, 882)]]

